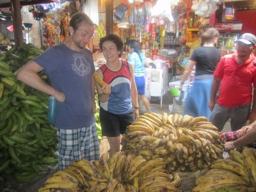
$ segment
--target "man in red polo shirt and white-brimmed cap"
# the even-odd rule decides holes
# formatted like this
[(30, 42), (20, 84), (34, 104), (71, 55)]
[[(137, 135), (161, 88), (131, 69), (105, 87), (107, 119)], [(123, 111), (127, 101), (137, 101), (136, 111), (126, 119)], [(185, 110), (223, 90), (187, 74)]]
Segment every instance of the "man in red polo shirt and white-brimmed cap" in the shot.
[[(248, 118), (256, 120), (256, 58), (252, 53), (255, 44), (256, 37), (244, 33), (236, 41), (236, 52), (223, 56), (216, 67), (209, 108), (212, 111), (210, 121), (219, 131), (228, 118), (231, 119), (232, 131), (243, 127)], [(215, 102), (219, 87), (220, 97)]]

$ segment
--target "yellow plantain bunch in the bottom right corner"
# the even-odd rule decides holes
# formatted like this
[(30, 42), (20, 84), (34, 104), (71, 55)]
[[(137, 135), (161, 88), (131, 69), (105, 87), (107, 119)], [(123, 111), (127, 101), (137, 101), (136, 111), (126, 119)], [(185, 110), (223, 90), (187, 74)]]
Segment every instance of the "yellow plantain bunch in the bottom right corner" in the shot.
[(228, 159), (214, 161), (211, 169), (196, 179), (192, 191), (256, 191), (255, 161), (253, 148), (244, 148), (242, 153), (232, 150)]

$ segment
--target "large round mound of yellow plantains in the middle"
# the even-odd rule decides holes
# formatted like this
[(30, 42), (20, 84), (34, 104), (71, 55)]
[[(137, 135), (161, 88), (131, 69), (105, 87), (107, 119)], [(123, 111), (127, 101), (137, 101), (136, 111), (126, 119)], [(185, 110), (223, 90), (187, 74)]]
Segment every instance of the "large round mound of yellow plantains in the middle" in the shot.
[(145, 113), (128, 127), (122, 150), (146, 159), (166, 159), (170, 172), (189, 172), (221, 158), (223, 141), (204, 116)]

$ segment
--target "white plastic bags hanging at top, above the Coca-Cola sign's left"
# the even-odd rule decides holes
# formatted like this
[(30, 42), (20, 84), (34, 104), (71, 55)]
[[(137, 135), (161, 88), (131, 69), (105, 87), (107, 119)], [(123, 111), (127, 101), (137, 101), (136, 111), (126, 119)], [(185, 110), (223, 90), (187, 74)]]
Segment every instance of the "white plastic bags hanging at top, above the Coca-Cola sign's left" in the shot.
[(191, 9), (200, 17), (209, 17), (218, 9), (218, 3), (220, 0), (194, 0)]

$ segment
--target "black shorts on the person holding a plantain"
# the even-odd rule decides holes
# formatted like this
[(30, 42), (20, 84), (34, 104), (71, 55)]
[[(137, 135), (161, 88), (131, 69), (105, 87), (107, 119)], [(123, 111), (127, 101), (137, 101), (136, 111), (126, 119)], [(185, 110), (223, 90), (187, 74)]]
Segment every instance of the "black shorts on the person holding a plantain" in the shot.
[(100, 108), (100, 125), (102, 136), (116, 137), (124, 134), (127, 126), (135, 121), (133, 111), (124, 115), (110, 113)]

